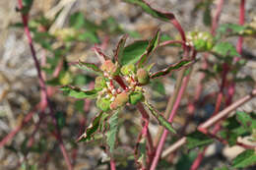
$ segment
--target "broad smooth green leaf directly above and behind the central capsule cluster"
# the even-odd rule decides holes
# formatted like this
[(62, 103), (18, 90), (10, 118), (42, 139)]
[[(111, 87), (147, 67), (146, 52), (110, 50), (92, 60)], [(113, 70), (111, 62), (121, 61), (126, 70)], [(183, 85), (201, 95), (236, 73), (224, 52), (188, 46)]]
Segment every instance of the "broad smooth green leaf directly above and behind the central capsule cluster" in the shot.
[(137, 63), (148, 47), (148, 40), (135, 41), (124, 48), (123, 56), (119, 59), (120, 64), (135, 64)]

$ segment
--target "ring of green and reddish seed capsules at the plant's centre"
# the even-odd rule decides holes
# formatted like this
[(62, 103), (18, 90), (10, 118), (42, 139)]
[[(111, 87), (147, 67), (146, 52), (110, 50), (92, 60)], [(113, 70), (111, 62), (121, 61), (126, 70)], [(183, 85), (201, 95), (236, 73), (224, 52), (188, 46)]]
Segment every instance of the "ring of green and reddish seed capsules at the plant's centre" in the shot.
[[(106, 60), (100, 68), (103, 75), (96, 77), (95, 89), (98, 91), (96, 106), (102, 111), (116, 110), (127, 103), (137, 104), (144, 99), (141, 85), (150, 81), (149, 72), (143, 68), (136, 69), (135, 65), (125, 65), (120, 68), (117, 63)], [(126, 88), (114, 85), (116, 77), (123, 78)]]

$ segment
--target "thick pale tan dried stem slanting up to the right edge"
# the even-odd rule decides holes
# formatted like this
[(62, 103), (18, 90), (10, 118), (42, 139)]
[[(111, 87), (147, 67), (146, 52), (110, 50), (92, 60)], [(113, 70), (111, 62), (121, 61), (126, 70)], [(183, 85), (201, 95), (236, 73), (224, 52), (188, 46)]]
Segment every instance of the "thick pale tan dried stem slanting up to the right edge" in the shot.
[[(231, 105), (226, 107), (223, 111), (221, 111), (218, 114), (216, 114), (216, 116), (210, 118), (206, 122), (204, 122), (201, 125), (199, 125), (198, 129), (206, 130), (206, 129), (214, 126), (218, 122), (224, 120), (224, 118), (226, 118), (228, 116), (228, 114), (230, 114), (232, 111), (234, 111), (235, 109), (237, 109), (241, 105), (245, 104), (246, 102), (250, 101), (254, 97), (256, 97), (256, 88), (253, 89), (252, 92), (250, 92), (249, 94), (247, 94), (244, 97), (242, 97), (242, 98), (236, 100), (235, 102), (233, 102)], [(171, 152), (175, 151), (177, 148), (179, 148), (181, 145), (183, 145), (185, 143), (186, 143), (186, 137), (183, 137), (179, 141), (174, 142), (173, 144), (171, 144), (168, 148), (166, 148), (162, 152), (161, 157), (166, 157)]]

